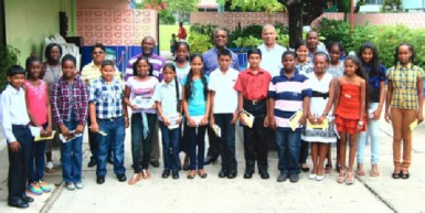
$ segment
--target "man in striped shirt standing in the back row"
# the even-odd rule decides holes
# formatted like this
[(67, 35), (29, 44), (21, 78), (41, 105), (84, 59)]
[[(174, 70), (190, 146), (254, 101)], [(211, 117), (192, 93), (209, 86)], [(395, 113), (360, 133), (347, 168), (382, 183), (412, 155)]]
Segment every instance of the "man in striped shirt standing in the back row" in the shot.
[[(135, 55), (128, 61), (126, 68), (126, 81), (128, 77), (132, 76), (132, 63), (140, 56), (146, 56), (149, 58), (149, 63), (153, 66), (153, 76), (156, 76), (159, 81), (162, 79), (161, 70), (166, 64), (166, 60), (153, 53), (153, 46), (156, 42), (152, 36), (145, 36), (141, 40), (141, 53)], [(144, 150), (140, 149), (140, 156), (144, 153)], [(153, 167), (159, 167), (159, 138), (158, 138), (158, 126), (155, 127), (152, 135), (152, 149), (150, 151), (150, 164)], [(144, 159), (141, 157), (141, 159)]]

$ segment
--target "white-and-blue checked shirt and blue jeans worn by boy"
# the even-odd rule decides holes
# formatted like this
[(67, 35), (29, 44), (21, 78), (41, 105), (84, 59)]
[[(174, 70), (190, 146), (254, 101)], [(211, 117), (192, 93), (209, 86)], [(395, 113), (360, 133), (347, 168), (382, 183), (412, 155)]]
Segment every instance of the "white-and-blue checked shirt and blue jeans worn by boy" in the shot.
[(97, 135), (99, 145), (97, 155), (97, 178), (106, 175), (106, 158), (111, 142), (114, 153), (114, 171), (117, 177), (125, 175), (124, 167), (124, 139), (126, 136), (125, 118), (123, 110), (124, 85), (117, 79), (106, 84), (103, 77), (95, 79), (89, 88), (88, 103), (96, 107), (96, 120), (99, 130), (106, 136)]

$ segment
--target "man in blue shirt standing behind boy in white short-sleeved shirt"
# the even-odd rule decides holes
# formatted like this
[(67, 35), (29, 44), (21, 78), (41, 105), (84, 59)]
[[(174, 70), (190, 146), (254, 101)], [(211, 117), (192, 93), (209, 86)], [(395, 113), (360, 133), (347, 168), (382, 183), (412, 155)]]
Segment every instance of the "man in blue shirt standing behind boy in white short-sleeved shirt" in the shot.
[[(223, 29), (216, 29), (213, 34), (213, 40), (214, 40), (214, 47), (206, 51), (204, 54), (202, 54), (203, 58), (203, 71), (205, 75), (210, 75), (210, 73), (219, 67), (219, 61), (217, 61), (217, 55), (219, 52), (223, 49), (229, 50), (226, 47), (227, 45), (227, 32)], [(230, 51), (230, 50), (229, 50)], [(231, 67), (238, 71), (240, 68), (240, 63), (237, 61), (237, 55), (232, 52), (232, 63)], [(214, 134), (214, 131), (209, 127), (208, 129), (208, 136), (209, 136), (209, 141), (210, 141), (210, 148), (206, 153), (206, 159), (205, 159), (205, 164), (209, 164), (211, 162), (214, 162), (219, 156), (220, 156), (220, 145), (219, 140)]]

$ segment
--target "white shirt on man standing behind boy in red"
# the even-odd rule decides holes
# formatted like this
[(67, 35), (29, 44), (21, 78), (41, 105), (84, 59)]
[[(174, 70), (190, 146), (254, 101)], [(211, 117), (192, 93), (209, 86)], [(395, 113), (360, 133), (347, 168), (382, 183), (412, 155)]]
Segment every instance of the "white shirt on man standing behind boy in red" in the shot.
[(279, 75), (280, 70), (284, 67), (281, 65), (281, 54), (284, 54), (286, 49), (279, 44), (275, 44), (273, 49), (267, 49), (264, 43), (258, 49), (262, 51), (259, 67), (267, 71), (272, 77)]

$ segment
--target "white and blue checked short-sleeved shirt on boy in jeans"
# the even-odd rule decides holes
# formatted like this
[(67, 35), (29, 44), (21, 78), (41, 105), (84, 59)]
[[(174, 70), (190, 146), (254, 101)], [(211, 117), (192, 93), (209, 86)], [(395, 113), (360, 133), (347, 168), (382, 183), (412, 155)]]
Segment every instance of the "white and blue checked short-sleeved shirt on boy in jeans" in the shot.
[(123, 111), (124, 85), (117, 79), (106, 84), (104, 78), (95, 79), (89, 90), (89, 103), (96, 106), (96, 118), (109, 119), (124, 115)]

